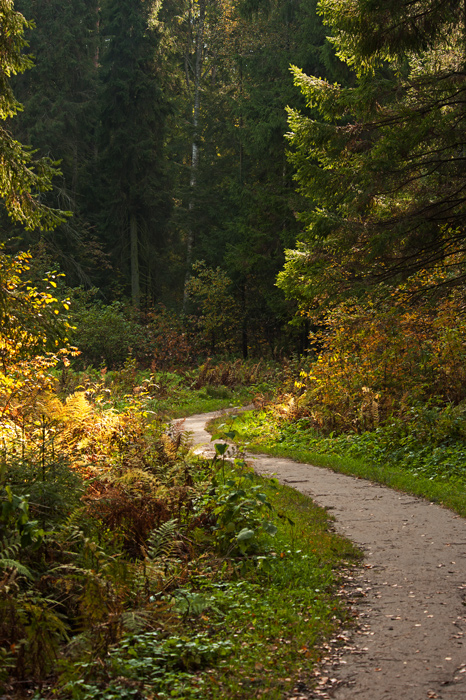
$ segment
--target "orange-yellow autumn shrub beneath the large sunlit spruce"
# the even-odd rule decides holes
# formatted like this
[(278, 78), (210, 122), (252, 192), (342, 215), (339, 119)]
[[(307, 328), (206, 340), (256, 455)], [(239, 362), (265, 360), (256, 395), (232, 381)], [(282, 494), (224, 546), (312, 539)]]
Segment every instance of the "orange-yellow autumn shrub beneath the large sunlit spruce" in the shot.
[(288, 408), (325, 432), (361, 432), (415, 402), (466, 398), (466, 317), (461, 294), (437, 305), (347, 302), (314, 335), (318, 356)]

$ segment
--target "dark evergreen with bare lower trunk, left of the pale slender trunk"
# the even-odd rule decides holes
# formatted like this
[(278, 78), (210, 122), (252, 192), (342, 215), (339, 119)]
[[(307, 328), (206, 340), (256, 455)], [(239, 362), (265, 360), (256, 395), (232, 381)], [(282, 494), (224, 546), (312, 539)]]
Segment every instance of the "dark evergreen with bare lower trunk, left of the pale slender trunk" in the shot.
[(158, 10), (143, 0), (106, 0), (102, 8), (96, 225), (135, 306), (159, 289), (170, 210)]

